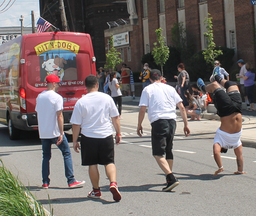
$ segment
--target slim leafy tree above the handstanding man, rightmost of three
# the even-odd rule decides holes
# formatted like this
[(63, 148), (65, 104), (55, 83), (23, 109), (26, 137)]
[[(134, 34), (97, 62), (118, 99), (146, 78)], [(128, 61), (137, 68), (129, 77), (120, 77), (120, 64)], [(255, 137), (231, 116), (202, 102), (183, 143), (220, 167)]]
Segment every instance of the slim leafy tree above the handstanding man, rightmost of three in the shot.
[[(208, 13), (208, 16), (210, 14)], [(204, 59), (207, 63), (212, 63), (215, 58), (217, 58), (219, 55), (223, 54), (221, 50), (216, 50), (215, 47), (215, 42), (214, 42), (214, 31), (212, 30), (212, 17), (205, 17), (204, 20), (204, 25), (207, 25), (207, 32), (204, 33), (208, 40), (208, 45), (207, 48), (204, 49), (203, 54), (204, 54)]]

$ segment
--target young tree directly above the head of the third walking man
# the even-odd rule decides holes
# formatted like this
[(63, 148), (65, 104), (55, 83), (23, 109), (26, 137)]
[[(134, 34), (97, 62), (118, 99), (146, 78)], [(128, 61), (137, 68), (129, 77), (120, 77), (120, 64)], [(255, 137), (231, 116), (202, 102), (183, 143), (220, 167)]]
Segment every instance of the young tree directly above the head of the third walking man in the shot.
[(157, 42), (154, 43), (155, 48), (152, 51), (152, 55), (154, 56), (156, 64), (161, 66), (162, 70), (162, 76), (163, 76), (163, 65), (169, 58), (169, 48), (166, 46), (165, 41), (163, 40), (164, 37), (162, 37), (162, 28), (156, 29), (157, 34)]

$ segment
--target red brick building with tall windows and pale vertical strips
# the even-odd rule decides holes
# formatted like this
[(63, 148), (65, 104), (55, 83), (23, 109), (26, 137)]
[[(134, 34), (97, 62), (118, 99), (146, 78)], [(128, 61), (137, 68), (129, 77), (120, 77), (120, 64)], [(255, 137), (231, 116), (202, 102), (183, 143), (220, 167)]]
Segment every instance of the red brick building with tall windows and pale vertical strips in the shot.
[[(250, 1), (241, 0), (141, 0), (134, 2), (137, 20), (119, 27), (105, 29), (105, 48), (108, 51), (110, 35), (129, 32), (130, 44), (117, 46), (121, 58), (133, 71), (140, 71), (143, 54), (151, 52), (156, 42), (155, 30), (161, 27), (164, 31), (167, 46), (172, 46), (171, 28), (174, 23), (183, 22), (189, 42), (195, 46), (195, 51), (206, 48), (207, 32), (203, 21), (212, 17), (214, 25), (214, 40), (216, 46), (234, 49), (234, 62), (244, 59), (256, 66), (254, 26), (256, 24), (256, 8)], [(121, 68), (121, 64), (118, 69)], [(237, 69), (236, 64), (233, 68)]]

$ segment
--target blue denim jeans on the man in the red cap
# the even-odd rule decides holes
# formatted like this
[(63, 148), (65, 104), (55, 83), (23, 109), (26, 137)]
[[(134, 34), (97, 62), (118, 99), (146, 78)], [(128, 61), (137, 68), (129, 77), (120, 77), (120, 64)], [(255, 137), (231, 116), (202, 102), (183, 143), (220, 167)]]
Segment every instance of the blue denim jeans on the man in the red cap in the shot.
[[(48, 184), (50, 183), (49, 175), (50, 175), (50, 159), (52, 156), (51, 147), (52, 144), (56, 144), (58, 137), (52, 139), (41, 139), (42, 143), (42, 183)], [(70, 152), (70, 147), (68, 140), (65, 135), (63, 135), (63, 141), (58, 145), (58, 148), (61, 150), (64, 165), (65, 165), (65, 176), (68, 179), (68, 184), (72, 184), (75, 182), (75, 178), (73, 175), (73, 162)], [(57, 166), (58, 164), (56, 164)]]

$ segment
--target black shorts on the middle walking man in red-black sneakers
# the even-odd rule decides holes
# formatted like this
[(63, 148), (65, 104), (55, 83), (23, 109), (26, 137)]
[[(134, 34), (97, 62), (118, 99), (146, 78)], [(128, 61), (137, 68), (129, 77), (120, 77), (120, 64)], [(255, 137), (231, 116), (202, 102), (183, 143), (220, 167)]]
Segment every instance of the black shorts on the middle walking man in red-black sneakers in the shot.
[(113, 136), (106, 138), (91, 138), (81, 135), (82, 166), (107, 165), (114, 163)]

